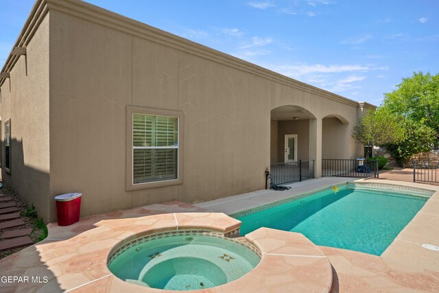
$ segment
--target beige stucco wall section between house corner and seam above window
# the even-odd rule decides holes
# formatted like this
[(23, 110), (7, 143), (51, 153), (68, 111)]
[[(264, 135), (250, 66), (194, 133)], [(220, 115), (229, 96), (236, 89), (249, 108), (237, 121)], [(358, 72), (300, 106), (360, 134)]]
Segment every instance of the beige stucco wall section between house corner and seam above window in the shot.
[(81, 192), (82, 215), (128, 209), (132, 36), (56, 11), (50, 27), (50, 194)]

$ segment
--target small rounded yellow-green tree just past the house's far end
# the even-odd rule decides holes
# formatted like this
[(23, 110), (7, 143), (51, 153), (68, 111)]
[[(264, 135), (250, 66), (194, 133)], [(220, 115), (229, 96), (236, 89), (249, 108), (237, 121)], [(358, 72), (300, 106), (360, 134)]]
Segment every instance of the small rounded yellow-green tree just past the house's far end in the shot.
[(401, 117), (393, 115), (384, 106), (377, 110), (368, 110), (354, 127), (352, 137), (363, 145), (398, 143), (405, 138), (405, 130), (401, 127), (400, 121)]

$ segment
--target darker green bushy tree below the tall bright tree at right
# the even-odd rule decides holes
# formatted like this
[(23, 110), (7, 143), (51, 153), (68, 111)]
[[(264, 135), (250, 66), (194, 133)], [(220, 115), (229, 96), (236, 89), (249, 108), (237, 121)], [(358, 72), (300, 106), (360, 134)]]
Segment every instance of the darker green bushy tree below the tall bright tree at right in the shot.
[(411, 119), (405, 119), (403, 127), (405, 128), (405, 138), (402, 141), (384, 145), (401, 167), (414, 154), (431, 150), (436, 143), (436, 131), (433, 128)]

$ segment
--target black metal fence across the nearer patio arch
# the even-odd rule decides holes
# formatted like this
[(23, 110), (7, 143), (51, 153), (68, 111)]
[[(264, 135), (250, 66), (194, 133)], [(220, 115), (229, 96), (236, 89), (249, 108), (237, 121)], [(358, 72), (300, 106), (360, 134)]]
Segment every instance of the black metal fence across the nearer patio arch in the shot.
[(314, 160), (273, 164), (270, 174), (275, 185), (314, 178)]

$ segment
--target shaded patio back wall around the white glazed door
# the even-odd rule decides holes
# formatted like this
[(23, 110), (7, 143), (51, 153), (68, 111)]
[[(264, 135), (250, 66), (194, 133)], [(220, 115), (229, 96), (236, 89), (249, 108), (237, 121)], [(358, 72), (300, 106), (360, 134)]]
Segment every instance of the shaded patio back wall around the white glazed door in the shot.
[(277, 162), (285, 161), (285, 134), (297, 134), (297, 159), (309, 160), (309, 119), (278, 121)]

